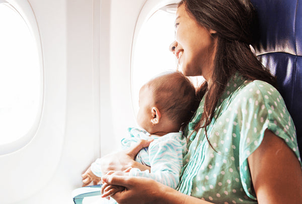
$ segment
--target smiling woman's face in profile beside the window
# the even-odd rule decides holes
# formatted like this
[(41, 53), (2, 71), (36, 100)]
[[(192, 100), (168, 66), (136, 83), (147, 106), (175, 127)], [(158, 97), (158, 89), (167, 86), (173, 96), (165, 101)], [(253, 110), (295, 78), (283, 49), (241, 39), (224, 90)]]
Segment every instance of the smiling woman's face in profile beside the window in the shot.
[(177, 9), (175, 20), (175, 41), (170, 45), (178, 60), (178, 66), (186, 76), (210, 77), (215, 54), (216, 32), (198, 24), (185, 10)]

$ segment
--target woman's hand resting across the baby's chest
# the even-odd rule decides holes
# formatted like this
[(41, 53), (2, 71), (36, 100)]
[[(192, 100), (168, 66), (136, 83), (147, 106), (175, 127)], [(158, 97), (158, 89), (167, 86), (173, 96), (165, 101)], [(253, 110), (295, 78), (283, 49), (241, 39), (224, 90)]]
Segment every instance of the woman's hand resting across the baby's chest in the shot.
[(137, 153), (145, 147), (148, 147), (153, 139), (149, 140), (140, 140), (134, 146), (131, 146), (129, 149), (109, 154), (101, 158), (101, 171), (103, 174), (107, 174), (109, 171), (124, 171), (129, 167), (135, 167), (141, 171), (150, 170), (150, 167), (140, 164), (134, 161)]

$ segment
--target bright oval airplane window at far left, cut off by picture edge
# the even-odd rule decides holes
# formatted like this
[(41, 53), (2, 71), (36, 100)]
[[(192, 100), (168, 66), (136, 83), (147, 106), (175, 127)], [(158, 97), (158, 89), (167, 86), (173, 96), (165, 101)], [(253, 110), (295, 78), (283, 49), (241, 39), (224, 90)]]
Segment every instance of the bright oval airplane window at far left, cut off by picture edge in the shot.
[(4, 145), (26, 135), (35, 124), (42, 70), (35, 38), (8, 3), (0, 3), (0, 29), (0, 145)]

